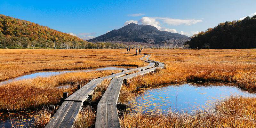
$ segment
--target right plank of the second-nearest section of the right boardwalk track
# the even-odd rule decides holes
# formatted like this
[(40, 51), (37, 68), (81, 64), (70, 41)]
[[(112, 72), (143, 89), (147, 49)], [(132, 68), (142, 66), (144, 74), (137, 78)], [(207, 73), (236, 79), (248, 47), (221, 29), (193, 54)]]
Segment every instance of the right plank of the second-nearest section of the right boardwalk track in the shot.
[(122, 85), (123, 85), (123, 79), (118, 78), (118, 80), (116, 82), (116, 86), (113, 89), (113, 92), (111, 93), (111, 95), (109, 97), (108, 104), (116, 104), (117, 103)]

